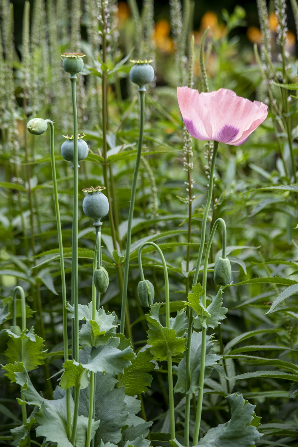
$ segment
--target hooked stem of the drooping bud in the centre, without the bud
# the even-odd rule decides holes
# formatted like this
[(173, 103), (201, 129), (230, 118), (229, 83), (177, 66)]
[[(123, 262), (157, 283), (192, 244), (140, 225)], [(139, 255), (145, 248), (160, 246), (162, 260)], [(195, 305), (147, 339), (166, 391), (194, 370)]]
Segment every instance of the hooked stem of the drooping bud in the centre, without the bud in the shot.
[[(168, 280), (168, 269), (164, 259), (164, 254), (157, 244), (154, 242), (144, 242), (139, 248), (138, 260), (141, 278), (144, 278), (142, 266), (142, 250), (146, 245), (152, 245), (158, 251), (164, 269), (164, 285), (165, 285), (165, 301), (166, 301), (166, 327), (170, 328), (170, 288)], [(175, 439), (175, 405), (174, 405), (174, 387), (173, 387), (173, 371), (172, 371), (172, 355), (168, 352), (168, 385), (169, 385), (169, 409), (170, 409), (170, 425), (171, 425), (171, 439)]]

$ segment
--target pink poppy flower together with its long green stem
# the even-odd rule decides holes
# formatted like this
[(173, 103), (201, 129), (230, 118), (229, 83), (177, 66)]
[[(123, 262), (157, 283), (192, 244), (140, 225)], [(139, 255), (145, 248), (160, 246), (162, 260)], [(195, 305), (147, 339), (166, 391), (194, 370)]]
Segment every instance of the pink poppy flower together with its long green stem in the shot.
[[(258, 101), (238, 97), (228, 89), (219, 89), (210, 93), (199, 93), (188, 87), (177, 88), (180, 111), (189, 133), (196, 139), (214, 140), (214, 149), (210, 165), (209, 189), (203, 220), (201, 224), (201, 242), (197, 256), (193, 286), (197, 283), (201, 259), (205, 244), (206, 223), (212, 200), (213, 180), (218, 143), (239, 146), (267, 117), (267, 105)], [(186, 386), (190, 384), (190, 347), (193, 330), (193, 309), (189, 308), (188, 339), (186, 351)], [(189, 446), (189, 414), (191, 396), (186, 395), (185, 402), (185, 445)]]

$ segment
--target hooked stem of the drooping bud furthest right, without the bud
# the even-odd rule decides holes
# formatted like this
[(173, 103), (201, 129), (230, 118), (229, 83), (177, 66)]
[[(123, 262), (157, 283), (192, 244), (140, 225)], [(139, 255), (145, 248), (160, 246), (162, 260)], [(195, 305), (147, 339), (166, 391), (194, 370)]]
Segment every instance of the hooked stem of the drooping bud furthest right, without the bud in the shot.
[[(212, 241), (214, 238), (215, 230), (218, 226), (218, 223), (222, 224), (222, 257), (226, 257), (226, 241), (227, 241), (227, 228), (226, 223), (223, 219), (217, 219), (214, 222), (214, 226), (210, 233), (210, 238), (208, 240), (205, 259), (204, 259), (204, 269), (203, 269), (203, 284), (202, 287), (204, 289), (204, 295), (202, 304), (206, 308), (206, 288), (207, 288), (207, 268), (208, 268), (208, 259), (210, 254), (210, 249), (212, 245)], [(196, 422), (195, 429), (193, 434), (193, 445), (197, 445), (198, 437), (200, 433), (201, 426), (201, 415), (202, 415), (202, 406), (203, 406), (203, 396), (204, 396), (204, 378), (205, 378), (205, 363), (206, 363), (206, 339), (207, 339), (207, 329), (202, 327), (202, 342), (201, 342), (201, 365), (200, 365), (200, 377), (199, 377), (199, 393), (197, 397), (197, 414), (196, 414)]]

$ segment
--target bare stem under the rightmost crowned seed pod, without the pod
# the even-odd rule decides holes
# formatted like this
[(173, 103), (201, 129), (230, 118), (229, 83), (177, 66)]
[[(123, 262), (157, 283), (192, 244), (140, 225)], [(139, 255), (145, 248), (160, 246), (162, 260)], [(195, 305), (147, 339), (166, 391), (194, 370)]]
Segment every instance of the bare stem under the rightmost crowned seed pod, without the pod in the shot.
[(134, 215), (135, 190), (136, 190), (136, 185), (137, 185), (139, 164), (140, 164), (140, 160), (141, 160), (141, 151), (142, 151), (142, 145), (143, 145), (143, 131), (144, 131), (145, 91), (140, 91), (139, 94), (140, 94), (140, 131), (139, 131), (137, 159), (135, 161), (134, 177), (133, 177), (132, 186), (131, 186), (130, 209), (129, 209), (129, 214), (128, 214), (128, 225), (127, 225), (127, 236), (126, 236), (126, 255), (125, 255), (125, 265), (124, 265), (122, 306), (121, 306), (121, 319), (120, 319), (120, 332), (122, 332), (122, 333), (124, 333), (124, 326), (125, 326), (127, 285), (128, 285), (128, 272), (129, 272), (129, 261), (130, 261), (131, 226), (132, 226), (132, 218)]

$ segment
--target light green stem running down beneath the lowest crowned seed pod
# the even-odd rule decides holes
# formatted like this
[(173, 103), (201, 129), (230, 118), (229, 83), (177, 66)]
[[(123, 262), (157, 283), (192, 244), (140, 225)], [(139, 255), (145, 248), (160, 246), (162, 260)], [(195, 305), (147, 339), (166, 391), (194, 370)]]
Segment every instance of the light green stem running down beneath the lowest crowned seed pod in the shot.
[[(94, 259), (93, 259), (93, 274), (92, 274), (92, 319), (96, 318), (96, 309), (97, 309), (97, 290), (94, 285), (94, 271), (96, 267), (98, 268), (98, 264), (100, 262), (100, 246), (101, 246), (101, 227), (95, 227), (96, 229), (96, 245), (94, 250)], [(99, 294), (100, 295), (100, 294)], [(93, 336), (92, 336), (93, 338)], [(92, 345), (94, 345), (94, 340), (92, 340)], [(95, 373), (93, 371), (90, 372), (90, 386), (89, 386), (89, 412), (88, 412), (88, 429), (86, 436), (86, 447), (90, 447), (91, 443), (91, 434), (92, 434), (92, 421), (94, 415), (94, 403), (95, 403)]]

